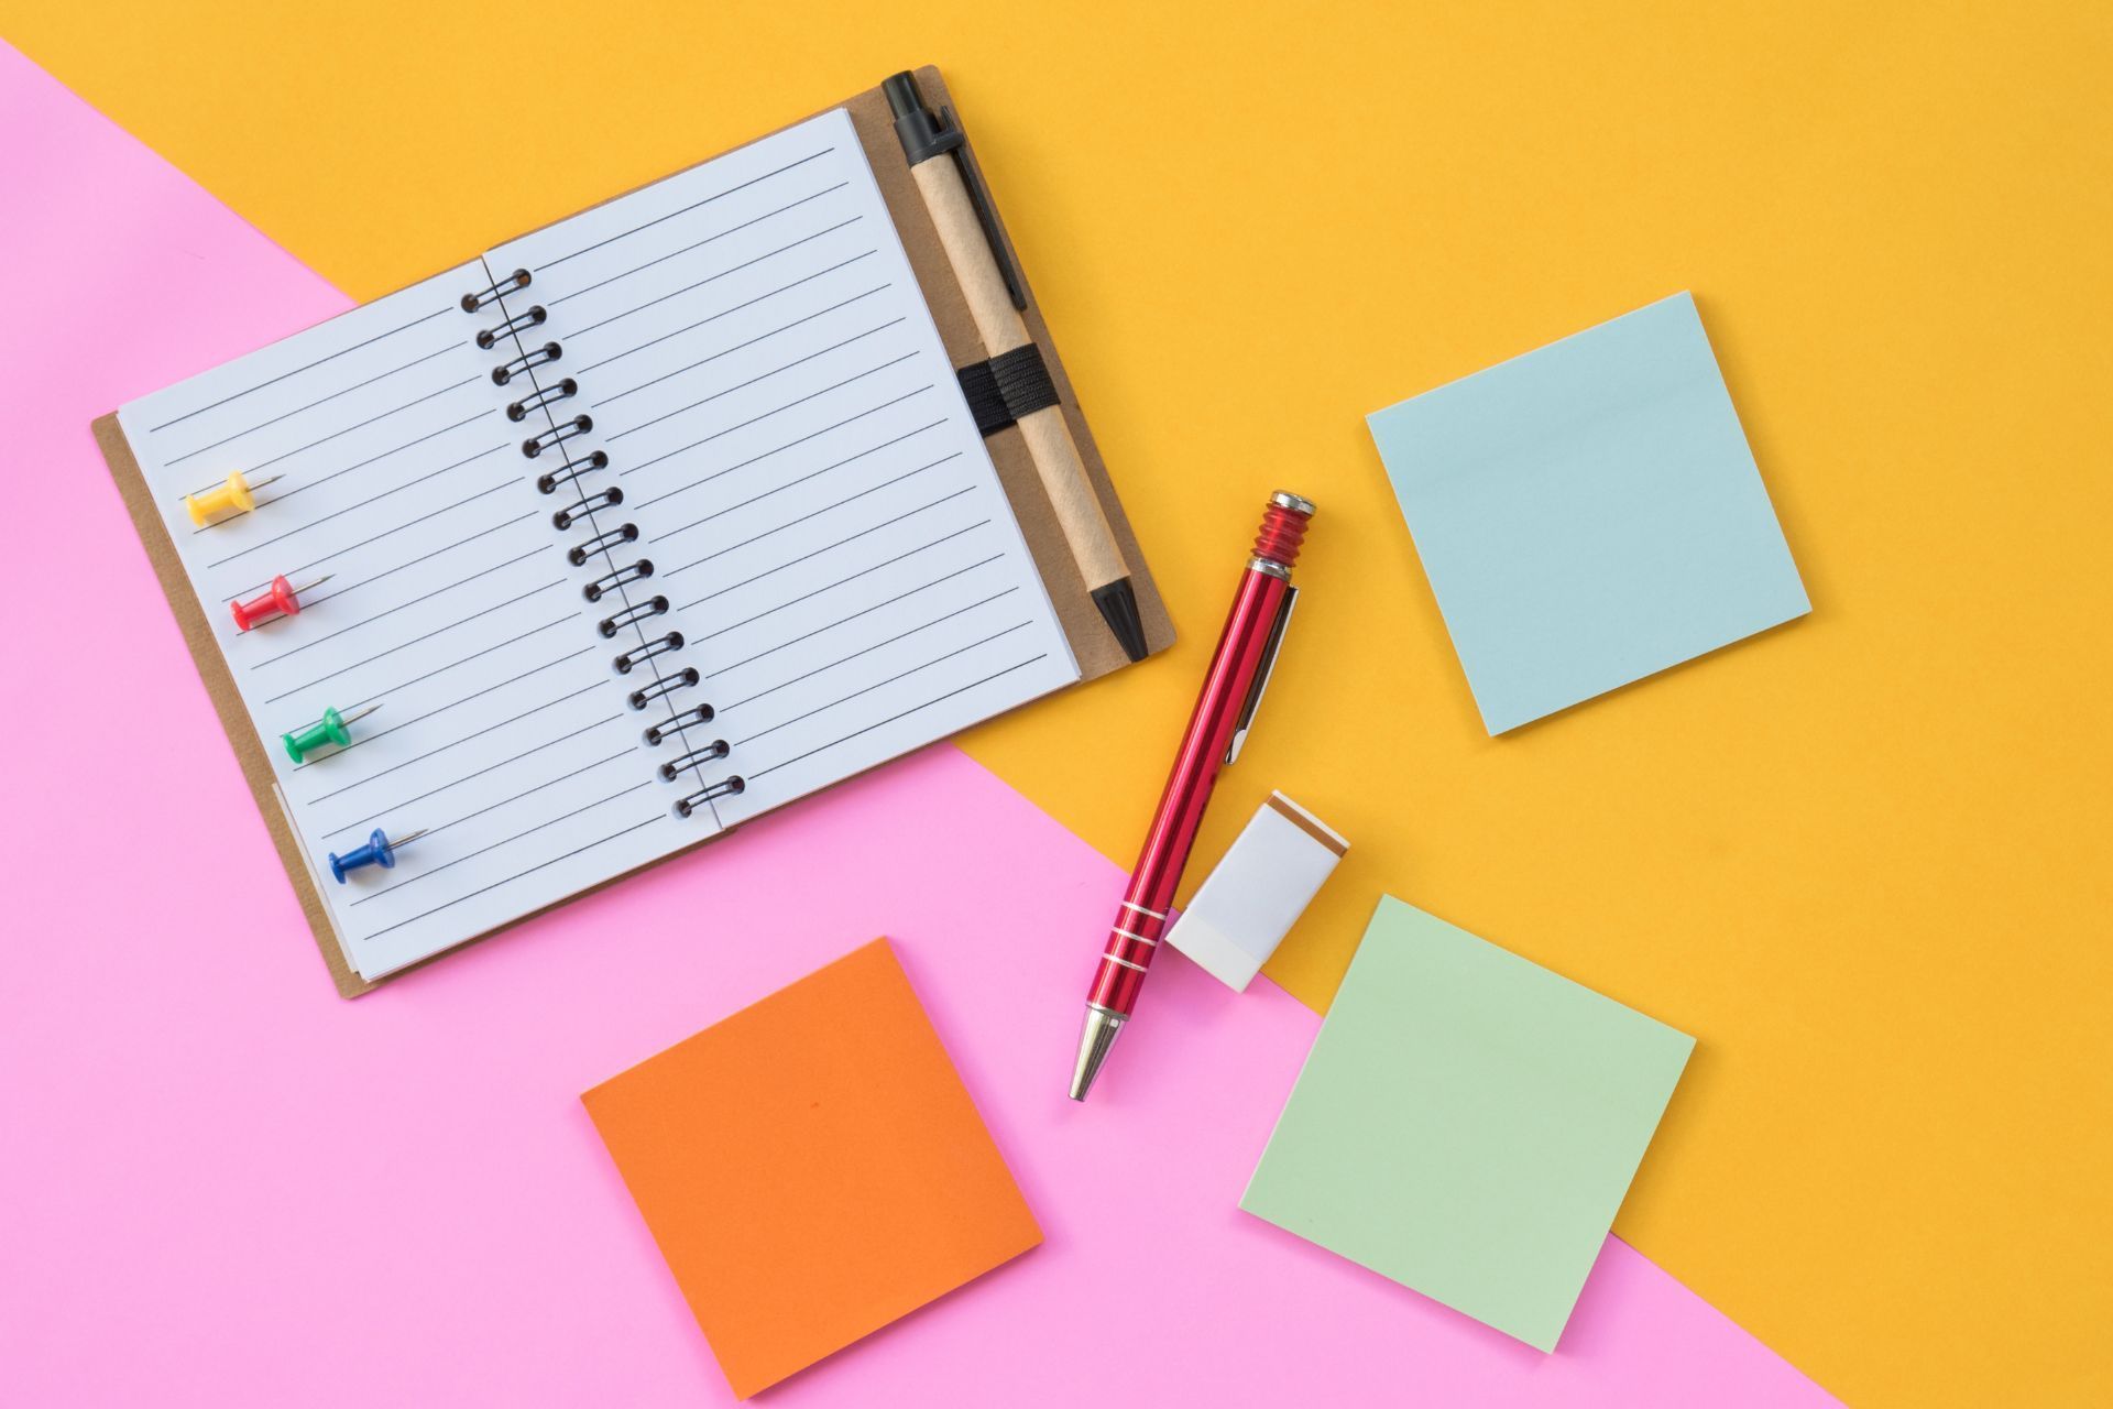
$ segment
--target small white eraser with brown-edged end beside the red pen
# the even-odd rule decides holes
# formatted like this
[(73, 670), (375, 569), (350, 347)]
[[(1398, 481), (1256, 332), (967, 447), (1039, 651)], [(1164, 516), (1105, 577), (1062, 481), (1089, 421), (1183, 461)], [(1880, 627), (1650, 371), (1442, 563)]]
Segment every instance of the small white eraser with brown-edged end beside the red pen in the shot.
[(1350, 849), (1283, 792), (1255, 811), (1166, 942), (1234, 991), (1245, 991)]

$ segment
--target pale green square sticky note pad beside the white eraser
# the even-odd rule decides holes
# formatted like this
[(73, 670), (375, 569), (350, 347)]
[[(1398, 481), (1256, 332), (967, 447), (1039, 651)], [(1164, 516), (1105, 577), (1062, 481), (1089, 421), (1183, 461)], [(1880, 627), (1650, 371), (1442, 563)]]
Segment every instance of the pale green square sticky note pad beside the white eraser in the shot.
[(1693, 1050), (1382, 896), (1240, 1208), (1555, 1350)]

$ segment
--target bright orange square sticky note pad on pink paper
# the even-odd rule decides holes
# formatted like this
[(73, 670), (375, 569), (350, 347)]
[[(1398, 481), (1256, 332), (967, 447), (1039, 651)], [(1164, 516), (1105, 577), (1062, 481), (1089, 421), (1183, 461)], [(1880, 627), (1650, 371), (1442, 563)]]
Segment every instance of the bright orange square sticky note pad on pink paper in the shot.
[(581, 1098), (742, 1398), (1042, 1242), (887, 940)]

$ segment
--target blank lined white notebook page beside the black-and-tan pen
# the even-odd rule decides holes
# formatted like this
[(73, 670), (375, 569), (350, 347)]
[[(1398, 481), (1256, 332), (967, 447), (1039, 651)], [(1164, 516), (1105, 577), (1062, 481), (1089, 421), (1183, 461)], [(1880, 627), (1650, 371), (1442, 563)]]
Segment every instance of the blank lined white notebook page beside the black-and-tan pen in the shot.
[[(845, 112), (494, 249), (704, 674), (740, 822), (1078, 678)], [(581, 530), (577, 537), (587, 539)], [(663, 746), (661, 752), (674, 752)]]

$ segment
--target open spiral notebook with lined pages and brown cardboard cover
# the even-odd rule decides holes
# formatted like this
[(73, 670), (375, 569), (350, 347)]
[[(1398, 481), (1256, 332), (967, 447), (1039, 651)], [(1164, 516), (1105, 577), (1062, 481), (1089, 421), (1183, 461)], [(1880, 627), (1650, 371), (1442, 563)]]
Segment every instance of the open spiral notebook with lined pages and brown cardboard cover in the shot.
[(1122, 661), (951, 279), (866, 93), (97, 422), (342, 993)]

